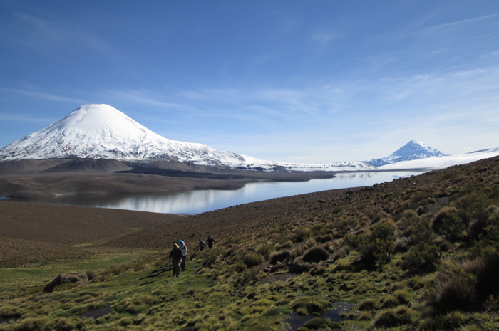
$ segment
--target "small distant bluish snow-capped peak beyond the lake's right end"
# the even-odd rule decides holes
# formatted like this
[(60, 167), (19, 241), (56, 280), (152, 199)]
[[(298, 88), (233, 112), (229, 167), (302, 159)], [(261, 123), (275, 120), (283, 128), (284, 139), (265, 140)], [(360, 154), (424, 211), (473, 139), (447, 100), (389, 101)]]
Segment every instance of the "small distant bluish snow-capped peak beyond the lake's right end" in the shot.
[(366, 161), (367, 164), (371, 164), (374, 167), (381, 167), (385, 164), (393, 164), (402, 161), (411, 161), (415, 159), (426, 159), (428, 157), (447, 157), (449, 154), (444, 154), (438, 149), (431, 148), (424, 145), (422, 142), (417, 140), (411, 140), (403, 147), (400, 147), (393, 152), (389, 157), (384, 157), (383, 159), (371, 159), (371, 161)]

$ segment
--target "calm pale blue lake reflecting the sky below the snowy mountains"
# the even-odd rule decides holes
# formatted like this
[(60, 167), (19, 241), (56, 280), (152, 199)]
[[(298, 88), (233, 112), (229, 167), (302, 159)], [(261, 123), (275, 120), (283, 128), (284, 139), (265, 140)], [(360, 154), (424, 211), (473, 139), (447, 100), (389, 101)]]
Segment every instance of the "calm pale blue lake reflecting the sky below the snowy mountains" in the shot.
[(391, 182), (393, 179), (410, 177), (422, 172), (355, 172), (338, 174), (331, 179), (312, 179), (309, 182), (264, 182), (249, 183), (242, 189), (205, 189), (178, 194), (120, 196), (111, 198), (53, 198), (39, 201), (43, 204), (65, 204), (71, 206), (93, 206), (111, 209), (151, 211), (171, 214), (200, 214), (237, 204), (293, 196), (329, 189), (371, 186)]

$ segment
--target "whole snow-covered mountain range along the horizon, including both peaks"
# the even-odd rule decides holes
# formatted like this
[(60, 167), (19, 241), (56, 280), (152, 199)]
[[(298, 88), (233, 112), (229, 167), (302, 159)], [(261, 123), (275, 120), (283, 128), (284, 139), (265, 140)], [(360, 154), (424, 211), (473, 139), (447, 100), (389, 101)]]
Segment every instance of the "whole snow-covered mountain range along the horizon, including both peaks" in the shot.
[[(218, 151), (200, 143), (169, 140), (110, 105), (82, 105), (53, 124), (0, 149), (0, 162), (22, 159), (115, 159), (134, 164), (165, 161), (185, 164), (184, 167), (190, 169), (220, 167), (260, 172), (357, 172), (397, 168), (441, 169), (495, 154), (499, 154), (499, 149), (483, 149), (452, 156), (411, 140), (389, 157), (364, 162), (272, 162), (236, 152)], [(407, 164), (421, 160), (426, 162), (420, 162), (421, 165)], [(393, 164), (397, 165), (393, 167)]]

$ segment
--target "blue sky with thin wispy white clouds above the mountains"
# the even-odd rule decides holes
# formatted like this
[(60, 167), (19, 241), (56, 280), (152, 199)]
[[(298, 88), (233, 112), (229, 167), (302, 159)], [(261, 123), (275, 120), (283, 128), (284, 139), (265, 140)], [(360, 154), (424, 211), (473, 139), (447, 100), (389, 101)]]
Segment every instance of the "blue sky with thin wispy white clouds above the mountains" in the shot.
[(0, 0), (1, 147), (87, 103), (280, 162), (499, 147), (499, 2)]

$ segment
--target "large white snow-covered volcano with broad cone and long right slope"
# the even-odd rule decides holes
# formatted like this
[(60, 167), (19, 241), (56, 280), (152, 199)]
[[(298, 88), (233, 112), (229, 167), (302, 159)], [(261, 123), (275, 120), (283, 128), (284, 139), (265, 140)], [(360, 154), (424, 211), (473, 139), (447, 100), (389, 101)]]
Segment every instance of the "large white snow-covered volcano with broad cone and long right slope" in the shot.
[(363, 162), (291, 164), (255, 159), (206, 145), (168, 140), (110, 105), (83, 105), (66, 117), (0, 149), (0, 161), (19, 159), (168, 159), (240, 169), (338, 171), (374, 169)]

